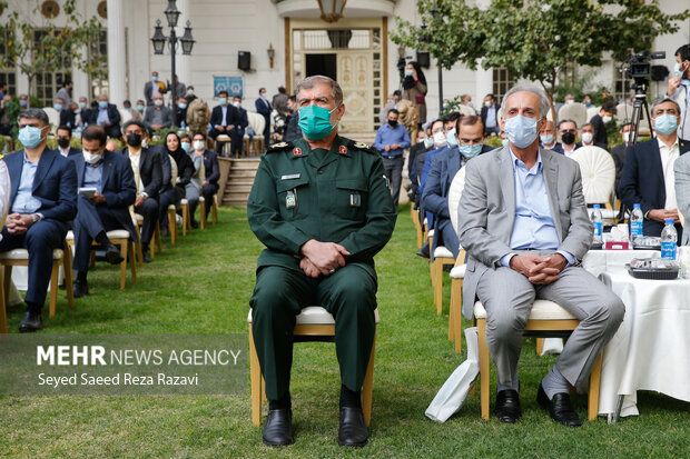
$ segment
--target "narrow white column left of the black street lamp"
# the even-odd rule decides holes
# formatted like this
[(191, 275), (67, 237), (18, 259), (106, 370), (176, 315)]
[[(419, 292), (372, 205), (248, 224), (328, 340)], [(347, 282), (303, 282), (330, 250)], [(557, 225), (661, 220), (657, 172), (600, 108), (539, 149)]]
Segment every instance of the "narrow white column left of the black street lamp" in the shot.
[[(125, 63), (125, 2), (108, 0), (108, 87), (110, 103), (120, 107), (128, 98)], [(148, 42), (147, 42), (148, 46)]]

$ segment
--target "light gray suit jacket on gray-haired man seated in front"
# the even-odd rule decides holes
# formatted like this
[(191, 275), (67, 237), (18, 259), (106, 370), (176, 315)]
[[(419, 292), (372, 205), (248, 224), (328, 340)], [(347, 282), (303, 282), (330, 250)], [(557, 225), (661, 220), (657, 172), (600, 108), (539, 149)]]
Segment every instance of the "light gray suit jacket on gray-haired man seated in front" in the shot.
[[(551, 216), (559, 240), (558, 250), (578, 260), (592, 242), (580, 167), (563, 154), (541, 149), (543, 174)], [(510, 247), (515, 220), (515, 178), (511, 153), (502, 147), (467, 161), (465, 188), (457, 209), (460, 243), (470, 253), (463, 282), (463, 315), (472, 317), (476, 286), (489, 269), (501, 266), (501, 258), (514, 252)]]

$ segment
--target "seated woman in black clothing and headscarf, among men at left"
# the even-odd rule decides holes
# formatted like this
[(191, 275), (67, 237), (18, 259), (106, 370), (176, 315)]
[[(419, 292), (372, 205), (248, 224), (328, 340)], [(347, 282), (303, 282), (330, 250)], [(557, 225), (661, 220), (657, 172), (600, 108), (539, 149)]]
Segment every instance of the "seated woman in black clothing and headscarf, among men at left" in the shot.
[(158, 206), (160, 233), (161, 236), (168, 236), (169, 226), (175, 224), (175, 221), (168, 221), (168, 206), (178, 206), (179, 201), (185, 197), (185, 189), (194, 173), (194, 164), (185, 149), (183, 149), (179, 137), (175, 132), (167, 133), (166, 141), (162, 148), (159, 149), (159, 153), (161, 157), (168, 158), (167, 164), (162, 166), (162, 168), (170, 170), (169, 174), (162, 174), (164, 180), (167, 180), (167, 182), (164, 182), (160, 188)]

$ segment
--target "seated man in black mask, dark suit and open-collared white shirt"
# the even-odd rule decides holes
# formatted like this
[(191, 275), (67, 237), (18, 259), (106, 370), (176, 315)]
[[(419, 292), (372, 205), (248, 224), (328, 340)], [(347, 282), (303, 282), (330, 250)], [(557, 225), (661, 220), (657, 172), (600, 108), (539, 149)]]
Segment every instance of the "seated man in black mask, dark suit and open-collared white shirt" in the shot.
[(150, 262), (149, 243), (158, 224), (158, 190), (162, 184), (160, 157), (148, 148), (141, 147), (147, 139), (146, 126), (141, 121), (129, 120), (122, 128), (127, 147), (121, 153), (129, 158), (137, 187), (135, 212), (144, 217), (141, 226), (141, 251), (144, 261)]

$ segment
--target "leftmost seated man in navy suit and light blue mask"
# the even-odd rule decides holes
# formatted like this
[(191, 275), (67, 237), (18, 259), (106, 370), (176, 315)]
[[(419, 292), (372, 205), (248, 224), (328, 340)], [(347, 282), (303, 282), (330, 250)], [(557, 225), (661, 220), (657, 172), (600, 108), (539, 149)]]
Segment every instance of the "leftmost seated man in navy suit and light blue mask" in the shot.
[(42, 328), (41, 309), (52, 271), (52, 251), (65, 247), (69, 223), (77, 214), (75, 163), (47, 148), (48, 114), (40, 109), (19, 113), (19, 141), (24, 149), (4, 157), (12, 194), (0, 251), (29, 251), (27, 311), (19, 331)]

